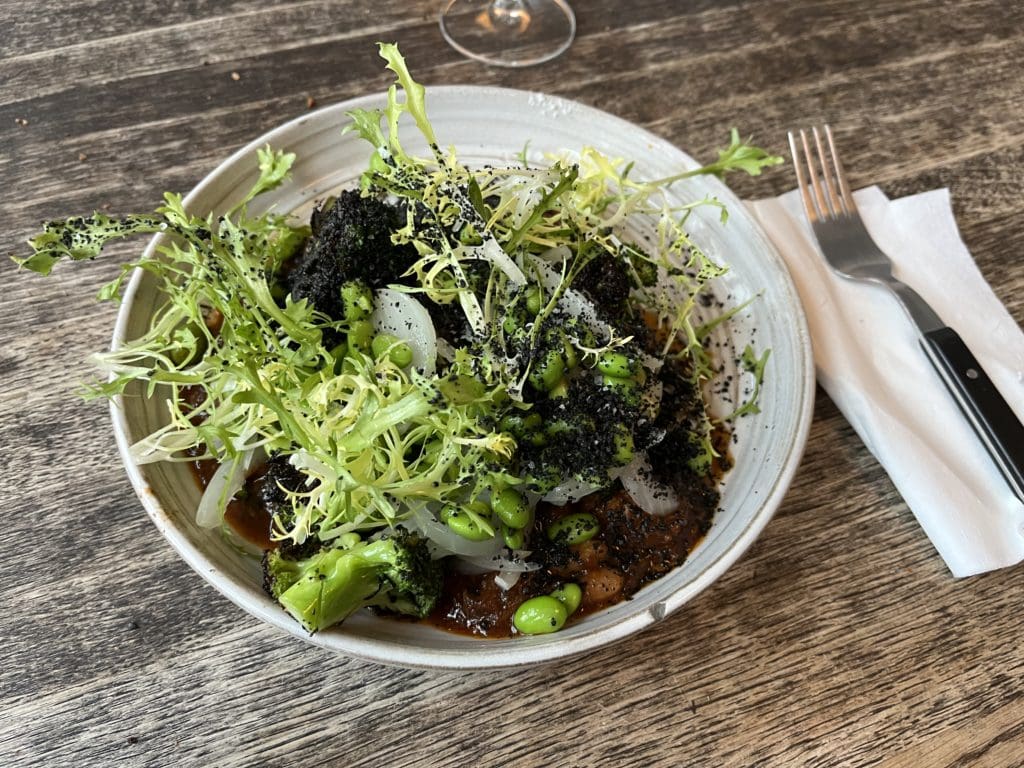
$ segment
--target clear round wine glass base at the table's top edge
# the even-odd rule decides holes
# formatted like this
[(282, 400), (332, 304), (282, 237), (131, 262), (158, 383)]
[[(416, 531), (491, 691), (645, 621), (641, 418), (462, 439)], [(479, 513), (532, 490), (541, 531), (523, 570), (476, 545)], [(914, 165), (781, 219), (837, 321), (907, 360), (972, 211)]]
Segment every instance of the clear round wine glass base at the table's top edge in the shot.
[(565, 0), (447, 0), (440, 28), (465, 56), (496, 67), (530, 67), (569, 47), (575, 15)]

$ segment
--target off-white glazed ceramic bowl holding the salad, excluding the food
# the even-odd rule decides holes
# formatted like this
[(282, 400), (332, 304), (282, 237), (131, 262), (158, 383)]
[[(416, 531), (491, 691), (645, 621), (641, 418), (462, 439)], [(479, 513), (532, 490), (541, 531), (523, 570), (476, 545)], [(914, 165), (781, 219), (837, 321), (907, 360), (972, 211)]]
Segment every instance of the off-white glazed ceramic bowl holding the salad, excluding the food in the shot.
[[(669, 142), (605, 113), (552, 96), (500, 88), (428, 89), (428, 111), (436, 135), (454, 144), (468, 164), (511, 162), (529, 142), (528, 155), (577, 150), (585, 144), (636, 162), (633, 178), (659, 178), (697, 164)], [(197, 213), (221, 212), (257, 177), (255, 153), (269, 144), (298, 156), (292, 179), (259, 200), (280, 211), (307, 208), (312, 201), (351, 185), (365, 168), (369, 145), (342, 134), (353, 108), (384, 104), (370, 96), (293, 120), (237, 152), (185, 200)], [(403, 143), (426, 153), (415, 130)], [(395, 622), (364, 612), (344, 626), (312, 637), (294, 623), (260, 587), (259, 565), (215, 532), (200, 528), (195, 511), (200, 490), (181, 464), (139, 467), (128, 446), (161, 424), (162, 404), (138, 396), (113, 404), (118, 444), (139, 498), (171, 546), (220, 593), (253, 615), (297, 638), (352, 656), (404, 667), (476, 669), (547, 662), (620, 640), (663, 618), (712, 584), (757, 538), (771, 518), (803, 453), (811, 419), (814, 369), (804, 314), (782, 261), (742, 204), (721, 182), (698, 177), (677, 184), (681, 199), (712, 195), (729, 210), (724, 226), (718, 211), (698, 209), (689, 227), (701, 247), (728, 263), (716, 293), (736, 304), (760, 294), (750, 308), (721, 330), (720, 339), (742, 350), (754, 341), (771, 348), (760, 398), (761, 413), (736, 425), (735, 467), (722, 485), (722, 509), (711, 531), (679, 568), (642, 589), (632, 600), (589, 615), (545, 636), (484, 640), (445, 633), (426, 625)], [(151, 244), (150, 253), (155, 244)], [(148, 273), (136, 271), (118, 316), (114, 345), (144, 332), (156, 303)], [(159, 398), (158, 398), (159, 400)], [(729, 410), (728, 407), (722, 407)], [(216, 602), (216, 601), (213, 601)], [(214, 606), (216, 609), (216, 606)]]

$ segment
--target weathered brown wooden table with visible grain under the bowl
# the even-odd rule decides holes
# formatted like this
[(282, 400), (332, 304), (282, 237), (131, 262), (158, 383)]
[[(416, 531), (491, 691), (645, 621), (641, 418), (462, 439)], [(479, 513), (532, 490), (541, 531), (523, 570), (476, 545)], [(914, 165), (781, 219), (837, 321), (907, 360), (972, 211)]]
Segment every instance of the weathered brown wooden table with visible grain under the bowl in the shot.
[[(1024, 5), (578, 0), (579, 38), (520, 71), (461, 58), (439, 0), (0, 6), (0, 251), (46, 218), (150, 210), (310, 105), (426, 83), (556, 93), (697, 157), (739, 126), (844, 130), (854, 185), (949, 186), (1024, 319)], [(371, 9), (371, 6), (374, 6)], [(781, 193), (787, 168), (739, 180)], [(950, 578), (823, 392), (781, 510), (713, 588), (561, 665), (455, 674), (333, 655), (261, 626), (148, 521), (86, 354), (97, 286), (138, 244), (49, 281), (3, 271), (0, 764), (1024, 765), (1020, 571)]]

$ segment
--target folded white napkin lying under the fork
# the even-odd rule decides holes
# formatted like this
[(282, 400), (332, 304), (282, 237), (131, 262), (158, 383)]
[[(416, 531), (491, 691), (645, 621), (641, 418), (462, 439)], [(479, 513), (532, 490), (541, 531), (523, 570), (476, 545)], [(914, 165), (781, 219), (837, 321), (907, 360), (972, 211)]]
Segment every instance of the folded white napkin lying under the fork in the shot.
[[(854, 197), (894, 274), (961, 334), (1024, 417), (1024, 334), (961, 240), (948, 190), (890, 201), (869, 187)], [(1024, 504), (933, 371), (896, 298), (828, 268), (798, 191), (749, 206), (797, 284), (818, 383), (885, 467), (953, 575), (1024, 559)]]

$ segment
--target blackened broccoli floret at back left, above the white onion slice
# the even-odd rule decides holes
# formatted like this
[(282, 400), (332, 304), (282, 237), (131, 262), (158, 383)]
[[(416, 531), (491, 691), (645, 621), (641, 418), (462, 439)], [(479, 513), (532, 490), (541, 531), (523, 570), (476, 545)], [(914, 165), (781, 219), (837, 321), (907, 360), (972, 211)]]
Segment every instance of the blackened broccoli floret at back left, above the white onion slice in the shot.
[(399, 282), (417, 256), (396, 246), (391, 233), (406, 223), (399, 208), (357, 190), (341, 193), (312, 215), (312, 236), (288, 274), (292, 297), (317, 310), (344, 316), (341, 286), (353, 281), (372, 289)]

